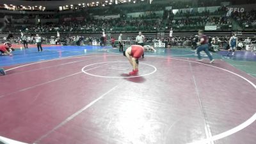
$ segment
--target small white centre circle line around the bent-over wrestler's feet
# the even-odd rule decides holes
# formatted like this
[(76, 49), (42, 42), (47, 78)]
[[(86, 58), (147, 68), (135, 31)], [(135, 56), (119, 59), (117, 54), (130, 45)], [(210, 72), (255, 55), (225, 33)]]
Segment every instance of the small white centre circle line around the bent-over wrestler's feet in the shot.
[[(129, 63), (129, 62), (127, 62), (127, 61), (108, 61), (108, 62), (101, 62), (101, 63)], [(147, 64), (147, 63), (140, 63), (140, 65), (148, 65), (148, 66), (150, 66), (150, 67), (153, 67), (153, 68), (154, 68), (154, 71), (153, 71), (153, 72), (150, 72), (149, 74), (143, 74), (143, 75), (138, 75), (138, 76), (108, 77), (108, 76), (99, 76), (99, 75), (95, 75), (95, 74), (90, 74), (90, 73), (86, 72), (87, 70), (84, 70), (84, 68), (86, 68), (86, 67), (90, 67), (91, 65), (97, 65), (97, 64), (101, 64), (101, 63), (93, 63), (93, 64), (90, 64), (90, 65), (86, 65), (85, 67), (82, 68), (82, 72), (83, 72), (84, 74), (88, 74), (88, 75), (90, 75), (90, 76), (95, 76), (95, 77), (122, 79), (122, 78), (132, 78), (132, 77), (148, 76), (148, 75), (154, 74), (154, 73), (157, 71), (157, 68), (156, 68), (156, 67), (154, 67), (153, 65), (149, 65), (149, 64)]]

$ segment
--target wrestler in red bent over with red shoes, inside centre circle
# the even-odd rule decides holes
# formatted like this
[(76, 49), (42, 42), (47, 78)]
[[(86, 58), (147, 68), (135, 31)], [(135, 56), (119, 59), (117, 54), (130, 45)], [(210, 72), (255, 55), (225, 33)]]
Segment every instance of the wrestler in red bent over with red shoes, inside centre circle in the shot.
[(138, 74), (139, 70), (139, 58), (144, 54), (144, 48), (141, 45), (131, 45), (124, 51), (124, 56), (126, 56), (132, 65), (132, 72), (129, 75)]

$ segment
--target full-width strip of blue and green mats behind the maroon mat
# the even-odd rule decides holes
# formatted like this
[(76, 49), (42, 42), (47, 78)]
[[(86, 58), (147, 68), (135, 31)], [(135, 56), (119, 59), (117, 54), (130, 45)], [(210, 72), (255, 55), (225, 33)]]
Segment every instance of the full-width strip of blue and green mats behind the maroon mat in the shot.
[[(0, 56), (0, 67), (18, 65), (23, 63), (32, 63), (36, 61), (52, 60), (54, 58), (65, 58), (68, 56), (79, 56), (88, 54), (122, 54), (119, 49), (112, 47), (100, 47), (100, 46), (54, 46), (44, 47), (43, 52), (38, 52), (36, 48), (29, 49), (16, 49), (13, 52), (13, 56)], [(86, 52), (84, 52), (86, 49)], [(256, 61), (256, 56), (252, 52), (236, 52), (235, 56), (227, 56), (227, 51), (220, 51), (212, 53), (214, 59), (223, 60), (244, 60), (244, 61)], [(157, 49), (156, 52), (145, 52), (145, 56), (172, 56), (172, 57), (186, 57), (196, 58), (195, 50), (184, 48), (172, 48), (172, 49)], [(206, 54), (202, 52), (203, 58), (207, 58)]]

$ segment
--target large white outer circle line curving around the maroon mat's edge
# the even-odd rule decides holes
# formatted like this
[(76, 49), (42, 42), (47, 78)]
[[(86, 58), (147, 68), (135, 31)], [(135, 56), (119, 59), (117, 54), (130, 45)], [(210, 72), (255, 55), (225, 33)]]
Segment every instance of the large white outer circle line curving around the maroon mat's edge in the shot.
[[(107, 55), (107, 56), (116, 56), (116, 55)], [(118, 55), (117, 55), (118, 56)], [(65, 59), (68, 59), (68, 58), (83, 58), (83, 57), (88, 57), (88, 56), (80, 56), (80, 57), (66, 57), (66, 58), (59, 58), (59, 59), (55, 59), (55, 60), (65, 60)], [(151, 57), (154, 57), (154, 58), (170, 58), (170, 59), (173, 59), (173, 60), (180, 60), (180, 61), (189, 61), (189, 60), (182, 60), (182, 59), (178, 59), (178, 58), (172, 58), (172, 57), (164, 57), (164, 56), (151, 56)], [(54, 61), (54, 60), (48, 60), (48, 61)], [(37, 63), (43, 63), (43, 62), (47, 62), (47, 61), (39, 61)], [(224, 68), (220, 68), (220, 67), (215, 67), (213, 65), (207, 65), (205, 63), (199, 63), (197, 61), (191, 61), (193, 63), (198, 63), (198, 64), (201, 64), (201, 65), (206, 65), (206, 66), (209, 66), (209, 67), (213, 67), (213, 68), (218, 68), (220, 70), (224, 70), (225, 72), (229, 72), (230, 74), (234, 74), (235, 76), (238, 76), (240, 77), (241, 79), (244, 79), (244, 81), (247, 81), (248, 83), (250, 83), (255, 89), (256, 89), (256, 85), (253, 84), (251, 81), (249, 81), (248, 79), (246, 79), (245, 77), (243, 76), (240, 76), (239, 74), (236, 74), (234, 72), (231, 72), (230, 70), (226, 70)], [(36, 64), (36, 63), (30, 63), (28, 65), (33, 65), (33, 64)], [(14, 67), (14, 68), (10, 68), (8, 70), (13, 70), (13, 69), (16, 69), (16, 68), (20, 68), (20, 67), (26, 67), (27, 65), (21, 65), (19, 67)], [(8, 71), (6, 70), (6, 71)], [(246, 120), (245, 122), (243, 122), (242, 124), (240, 125), (237, 125), (236, 127), (232, 128), (232, 129), (229, 129), (228, 131), (225, 131), (225, 132), (222, 132), (220, 134), (216, 134), (215, 136), (212, 136), (211, 138), (206, 138), (204, 140), (199, 140), (199, 141), (194, 141), (194, 142), (191, 142), (191, 143), (186, 143), (186, 144), (205, 144), (205, 143), (209, 143), (211, 141), (216, 141), (216, 140), (220, 140), (221, 138), (225, 138), (227, 136), (230, 136), (238, 131), (241, 131), (242, 129), (248, 127), (250, 124), (252, 124), (253, 122), (255, 122), (256, 120), (256, 113), (254, 113), (252, 115), (252, 117), (248, 118), (248, 120)]]

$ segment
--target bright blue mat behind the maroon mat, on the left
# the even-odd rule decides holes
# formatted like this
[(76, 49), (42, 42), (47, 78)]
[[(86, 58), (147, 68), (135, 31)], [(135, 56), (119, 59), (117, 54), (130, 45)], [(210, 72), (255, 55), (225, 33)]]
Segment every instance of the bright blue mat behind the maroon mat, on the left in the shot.
[[(109, 47), (107, 47), (109, 48)], [(94, 52), (102, 53), (107, 49), (97, 46), (56, 46), (43, 47), (44, 51), (38, 52), (36, 48), (15, 49), (13, 56), (0, 56), (0, 66), (17, 65), (22, 63), (32, 63), (42, 60), (52, 60), (54, 58), (65, 58), (67, 56), (78, 56), (92, 54)], [(84, 52), (86, 49), (86, 52)]]

